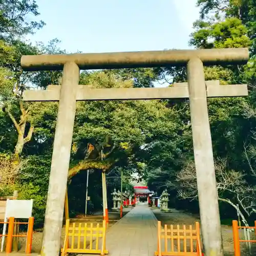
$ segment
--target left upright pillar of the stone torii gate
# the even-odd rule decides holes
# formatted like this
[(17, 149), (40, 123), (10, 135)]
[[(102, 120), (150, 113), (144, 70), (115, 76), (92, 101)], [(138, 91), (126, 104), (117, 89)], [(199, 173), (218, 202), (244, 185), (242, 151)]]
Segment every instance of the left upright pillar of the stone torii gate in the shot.
[[(80, 70), (76, 63), (67, 62), (64, 65), (53, 144), (41, 255), (59, 254), (79, 75)], [(52, 231), (53, 229), (55, 232)]]

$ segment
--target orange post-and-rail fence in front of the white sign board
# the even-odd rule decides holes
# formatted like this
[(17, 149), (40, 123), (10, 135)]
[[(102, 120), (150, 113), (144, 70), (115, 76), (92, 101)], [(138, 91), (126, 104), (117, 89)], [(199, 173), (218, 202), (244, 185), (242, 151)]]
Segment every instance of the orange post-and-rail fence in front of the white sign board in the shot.
[[(34, 218), (30, 217), (29, 222), (15, 222), (14, 217), (10, 217), (9, 221), (7, 222), (0, 222), (0, 224), (8, 224), (8, 232), (7, 234), (0, 234), (0, 237), (7, 237), (6, 241), (6, 253), (12, 252), (12, 241), (14, 237), (26, 237), (27, 244), (26, 244), (26, 254), (31, 253), (32, 248), (32, 237), (33, 237), (33, 226), (34, 226)], [(13, 234), (14, 225), (15, 224), (28, 224), (28, 231), (26, 234)]]

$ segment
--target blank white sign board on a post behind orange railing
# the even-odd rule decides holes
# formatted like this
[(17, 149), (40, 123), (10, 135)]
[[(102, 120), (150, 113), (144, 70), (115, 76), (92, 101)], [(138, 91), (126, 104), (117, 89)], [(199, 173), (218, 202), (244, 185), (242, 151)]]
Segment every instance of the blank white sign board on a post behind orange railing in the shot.
[[(7, 199), (5, 210), (5, 222), (10, 217), (15, 219), (28, 219), (32, 217), (33, 199), (31, 200), (10, 200)], [(3, 235), (6, 234), (6, 223), (3, 228)], [(2, 237), (1, 252), (4, 250), (5, 237)]]

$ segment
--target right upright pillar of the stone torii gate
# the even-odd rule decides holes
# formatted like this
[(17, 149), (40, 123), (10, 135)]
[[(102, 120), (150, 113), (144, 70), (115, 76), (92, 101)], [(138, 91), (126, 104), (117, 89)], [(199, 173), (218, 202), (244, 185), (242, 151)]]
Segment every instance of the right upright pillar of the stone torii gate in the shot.
[(207, 256), (223, 255), (221, 223), (214, 155), (207, 109), (203, 62), (195, 57), (187, 63), (191, 127), (197, 173), (200, 220)]

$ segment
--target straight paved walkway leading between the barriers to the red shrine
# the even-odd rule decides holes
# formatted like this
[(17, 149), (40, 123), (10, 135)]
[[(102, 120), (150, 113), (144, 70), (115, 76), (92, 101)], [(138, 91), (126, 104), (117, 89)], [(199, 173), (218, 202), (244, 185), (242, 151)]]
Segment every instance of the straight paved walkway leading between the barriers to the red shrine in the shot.
[(137, 205), (106, 233), (110, 256), (154, 256), (157, 219), (147, 205)]

